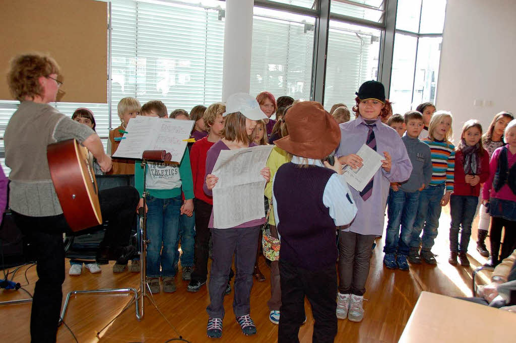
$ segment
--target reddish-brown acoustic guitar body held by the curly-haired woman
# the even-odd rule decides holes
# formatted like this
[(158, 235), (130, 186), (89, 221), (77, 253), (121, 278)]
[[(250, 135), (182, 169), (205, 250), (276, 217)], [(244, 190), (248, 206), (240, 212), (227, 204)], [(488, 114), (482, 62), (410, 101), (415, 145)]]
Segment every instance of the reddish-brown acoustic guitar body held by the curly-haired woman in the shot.
[(75, 139), (50, 144), (50, 175), (63, 214), (72, 231), (102, 224), (98, 187), (88, 150)]

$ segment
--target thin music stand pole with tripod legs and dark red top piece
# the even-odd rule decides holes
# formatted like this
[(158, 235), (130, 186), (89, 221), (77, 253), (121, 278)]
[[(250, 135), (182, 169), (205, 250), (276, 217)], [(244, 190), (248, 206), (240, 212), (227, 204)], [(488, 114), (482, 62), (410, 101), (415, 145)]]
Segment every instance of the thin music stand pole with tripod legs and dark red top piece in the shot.
[[(166, 153), (165, 150), (146, 150), (142, 154), (141, 159), (141, 168), (143, 168), (143, 192), (142, 192), (142, 198), (143, 198), (143, 207), (140, 208), (138, 211), (140, 215), (140, 287), (138, 288), (138, 296), (131, 299), (130, 302), (125, 305), (125, 307), (122, 309), (122, 311), (109, 323), (107, 323), (104, 328), (102, 328), (98, 333), (97, 337), (100, 338), (100, 334), (112, 323), (114, 322), (122, 313), (125, 312), (126, 309), (131, 307), (133, 303), (135, 303), (136, 306), (136, 319), (138, 321), (143, 319), (144, 315), (144, 298), (147, 297), (147, 299), (151, 302), (151, 304), (156, 308), (156, 311), (165, 319), (165, 321), (170, 325), (170, 327), (177, 333), (174, 326), (170, 323), (170, 321), (163, 315), (161, 311), (159, 311), (158, 306), (156, 305), (156, 302), (154, 301), (154, 297), (151, 293), (151, 288), (149, 286), (149, 283), (147, 282), (147, 244), (149, 244), (149, 240), (147, 239), (147, 212), (145, 211), (145, 208), (147, 207), (147, 197), (149, 196), (149, 192), (147, 191), (146, 187), (146, 181), (147, 181), (147, 163), (148, 161), (170, 161), (171, 160), (171, 154)], [(181, 336), (180, 336), (181, 338)]]

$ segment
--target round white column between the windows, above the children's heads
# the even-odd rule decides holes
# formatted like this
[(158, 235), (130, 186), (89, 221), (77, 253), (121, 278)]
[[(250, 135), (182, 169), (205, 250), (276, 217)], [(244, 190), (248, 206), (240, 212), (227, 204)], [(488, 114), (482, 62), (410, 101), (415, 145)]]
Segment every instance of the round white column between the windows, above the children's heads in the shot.
[(253, 0), (226, 0), (222, 101), (233, 93), (249, 93), (253, 32)]

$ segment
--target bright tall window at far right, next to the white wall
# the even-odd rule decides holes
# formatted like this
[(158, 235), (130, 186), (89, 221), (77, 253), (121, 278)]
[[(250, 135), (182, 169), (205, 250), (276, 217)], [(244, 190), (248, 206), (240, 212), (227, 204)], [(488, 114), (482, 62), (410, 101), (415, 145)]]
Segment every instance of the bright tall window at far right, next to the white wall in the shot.
[(390, 100), (394, 113), (436, 101), (446, 0), (398, 0)]

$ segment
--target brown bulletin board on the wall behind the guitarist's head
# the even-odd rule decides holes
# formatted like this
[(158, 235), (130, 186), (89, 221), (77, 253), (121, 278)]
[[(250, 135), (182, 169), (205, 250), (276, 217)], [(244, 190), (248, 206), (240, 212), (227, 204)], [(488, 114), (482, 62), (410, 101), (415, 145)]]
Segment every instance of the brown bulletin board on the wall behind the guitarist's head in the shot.
[(107, 102), (107, 3), (94, 0), (0, 0), (0, 100), (13, 100), (9, 60), (39, 52), (61, 68), (63, 102)]

